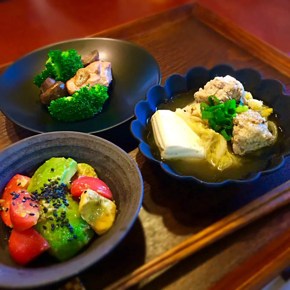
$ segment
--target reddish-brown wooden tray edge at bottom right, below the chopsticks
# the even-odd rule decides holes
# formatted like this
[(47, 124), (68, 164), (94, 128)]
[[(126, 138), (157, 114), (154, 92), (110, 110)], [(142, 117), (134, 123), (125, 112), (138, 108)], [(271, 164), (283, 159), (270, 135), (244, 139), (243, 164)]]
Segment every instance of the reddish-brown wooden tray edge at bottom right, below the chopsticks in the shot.
[(209, 290), (262, 289), (290, 265), (290, 229), (237, 266)]

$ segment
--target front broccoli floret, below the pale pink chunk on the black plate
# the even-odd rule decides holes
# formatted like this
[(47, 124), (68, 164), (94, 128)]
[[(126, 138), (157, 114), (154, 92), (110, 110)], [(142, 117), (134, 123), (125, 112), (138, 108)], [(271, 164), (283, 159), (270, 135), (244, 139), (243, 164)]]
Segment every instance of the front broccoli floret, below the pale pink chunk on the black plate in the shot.
[(82, 87), (70, 97), (50, 102), (50, 114), (61, 121), (77, 121), (93, 117), (102, 110), (108, 98), (108, 88), (101, 85)]

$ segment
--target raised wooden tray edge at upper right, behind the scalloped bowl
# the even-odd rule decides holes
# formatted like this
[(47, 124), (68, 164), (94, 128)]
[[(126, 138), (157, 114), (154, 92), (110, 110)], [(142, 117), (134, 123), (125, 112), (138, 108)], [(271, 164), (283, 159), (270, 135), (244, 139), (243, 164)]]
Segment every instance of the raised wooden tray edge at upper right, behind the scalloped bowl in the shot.
[(193, 15), (219, 34), (247, 50), (269, 66), (290, 77), (290, 57), (236, 24), (219, 16), (199, 3), (194, 4)]

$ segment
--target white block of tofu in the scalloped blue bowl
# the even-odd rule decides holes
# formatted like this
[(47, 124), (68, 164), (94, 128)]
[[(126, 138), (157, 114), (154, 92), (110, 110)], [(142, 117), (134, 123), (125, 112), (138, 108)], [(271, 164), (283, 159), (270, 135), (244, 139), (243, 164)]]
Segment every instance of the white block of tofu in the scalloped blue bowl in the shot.
[(170, 110), (158, 110), (151, 118), (153, 135), (163, 159), (205, 158), (197, 134)]

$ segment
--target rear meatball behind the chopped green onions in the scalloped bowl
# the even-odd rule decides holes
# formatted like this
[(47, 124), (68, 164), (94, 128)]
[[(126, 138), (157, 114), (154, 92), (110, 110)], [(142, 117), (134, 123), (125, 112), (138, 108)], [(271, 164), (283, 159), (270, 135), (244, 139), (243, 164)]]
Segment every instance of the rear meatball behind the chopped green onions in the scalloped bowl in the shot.
[(237, 104), (241, 101), (244, 105), (247, 103), (246, 92), (243, 85), (232, 76), (217, 76), (207, 82), (204, 88), (200, 88), (194, 94), (198, 103), (208, 103), (210, 95), (216, 96), (222, 103), (227, 100), (235, 99)]

